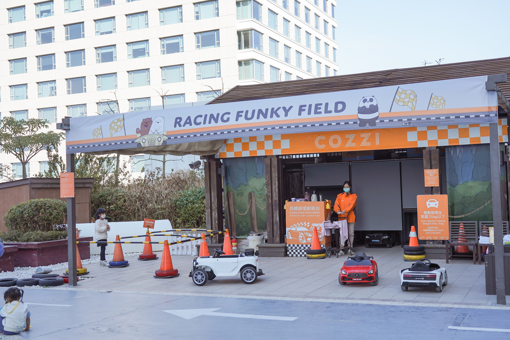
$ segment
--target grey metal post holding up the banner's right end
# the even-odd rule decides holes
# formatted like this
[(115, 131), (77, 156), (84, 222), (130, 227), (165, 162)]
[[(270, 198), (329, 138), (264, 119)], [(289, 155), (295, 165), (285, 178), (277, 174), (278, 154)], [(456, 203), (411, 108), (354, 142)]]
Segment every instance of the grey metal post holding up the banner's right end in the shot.
[(503, 264), (503, 221), (501, 214), (501, 184), (498, 123), (489, 124), (491, 150), (492, 219), (494, 221), (494, 261), (496, 272), (496, 301), (505, 305), (505, 268)]

